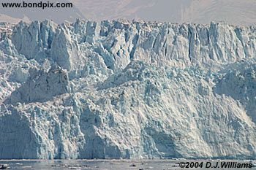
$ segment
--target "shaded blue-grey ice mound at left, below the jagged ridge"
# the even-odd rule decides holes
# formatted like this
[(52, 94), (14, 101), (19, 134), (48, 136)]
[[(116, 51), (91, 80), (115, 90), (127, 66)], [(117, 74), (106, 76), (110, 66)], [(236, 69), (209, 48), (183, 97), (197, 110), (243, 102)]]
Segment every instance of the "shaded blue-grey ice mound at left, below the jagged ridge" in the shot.
[(12, 92), (4, 104), (45, 102), (71, 91), (67, 72), (53, 66), (49, 72), (30, 71), (29, 79)]

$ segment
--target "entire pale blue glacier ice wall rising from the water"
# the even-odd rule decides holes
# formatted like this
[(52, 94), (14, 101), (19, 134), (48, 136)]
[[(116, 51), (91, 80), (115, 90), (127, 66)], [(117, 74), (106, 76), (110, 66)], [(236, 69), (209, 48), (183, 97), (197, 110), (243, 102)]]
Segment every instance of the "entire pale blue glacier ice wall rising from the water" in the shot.
[(0, 37), (0, 158), (255, 158), (255, 30), (19, 23)]

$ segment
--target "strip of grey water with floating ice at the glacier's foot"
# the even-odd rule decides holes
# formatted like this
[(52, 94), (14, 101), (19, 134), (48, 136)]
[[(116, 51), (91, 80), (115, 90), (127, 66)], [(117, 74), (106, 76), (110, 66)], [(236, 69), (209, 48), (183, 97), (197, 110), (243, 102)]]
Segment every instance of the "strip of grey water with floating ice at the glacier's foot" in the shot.
[[(174, 170), (181, 169), (178, 163), (181, 161), (0, 161), (0, 164), (8, 164), (10, 169), (28, 170), (61, 170), (61, 169), (91, 169), (91, 170)], [(187, 161), (182, 161), (187, 162)], [(197, 161), (201, 162), (201, 161)], [(207, 161), (203, 161), (206, 163)], [(226, 161), (227, 162), (227, 161)], [(249, 163), (250, 161), (238, 161), (239, 163)], [(211, 161), (215, 164), (215, 161)], [(253, 161), (255, 163), (255, 161)], [(186, 169), (186, 168), (184, 168)], [(201, 168), (198, 168), (201, 169)], [(206, 168), (202, 168), (206, 169)], [(230, 168), (232, 169), (232, 168)], [(256, 169), (253, 167), (252, 169)], [(236, 169), (238, 170), (238, 169)]]

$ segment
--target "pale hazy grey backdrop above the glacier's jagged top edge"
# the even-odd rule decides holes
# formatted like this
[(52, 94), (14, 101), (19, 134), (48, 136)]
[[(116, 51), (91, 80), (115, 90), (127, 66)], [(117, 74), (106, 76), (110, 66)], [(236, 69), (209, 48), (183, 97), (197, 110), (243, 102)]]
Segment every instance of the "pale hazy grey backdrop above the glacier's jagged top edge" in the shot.
[[(10, 0), (0, 1), (2, 2)], [(132, 20), (133, 18), (140, 18), (142, 20), (167, 21), (174, 23), (210, 23), (213, 20), (243, 25), (252, 25), (256, 23), (256, 0), (59, 1), (72, 1), (76, 8), (59, 9), (59, 11), (56, 11), (56, 9), (15, 10), (2, 9), (0, 7), (0, 13), (11, 16), (12, 18), (23, 18), (24, 15), (26, 15), (30, 20), (42, 20), (50, 18), (55, 20), (57, 23), (61, 23), (64, 20), (74, 20), (75, 18), (87, 18), (90, 20), (113, 20), (117, 18), (127, 18)]]

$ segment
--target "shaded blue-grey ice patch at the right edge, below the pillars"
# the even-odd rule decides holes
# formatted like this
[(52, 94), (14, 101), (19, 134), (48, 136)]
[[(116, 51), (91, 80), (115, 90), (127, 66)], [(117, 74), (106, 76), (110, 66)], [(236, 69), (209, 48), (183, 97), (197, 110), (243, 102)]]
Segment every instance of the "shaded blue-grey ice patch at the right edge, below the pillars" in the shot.
[(246, 114), (256, 123), (256, 66), (240, 66), (215, 80), (214, 92), (234, 98), (244, 105)]

